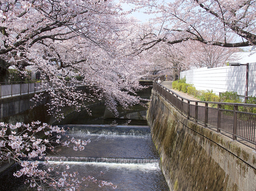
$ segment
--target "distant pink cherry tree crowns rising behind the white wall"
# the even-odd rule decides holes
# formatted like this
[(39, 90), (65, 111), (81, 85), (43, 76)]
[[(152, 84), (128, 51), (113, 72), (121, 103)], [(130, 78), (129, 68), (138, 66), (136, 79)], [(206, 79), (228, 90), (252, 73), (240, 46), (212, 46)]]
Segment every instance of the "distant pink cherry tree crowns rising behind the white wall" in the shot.
[(146, 53), (148, 54), (147, 59), (154, 63), (151, 65), (152, 71), (161, 74), (173, 74), (174, 80), (177, 80), (179, 71), (195, 67), (225, 66), (229, 59), (235, 59), (236, 56), (233, 53), (239, 50), (239, 48), (226, 48), (186, 41), (174, 45), (158, 43), (146, 50)]

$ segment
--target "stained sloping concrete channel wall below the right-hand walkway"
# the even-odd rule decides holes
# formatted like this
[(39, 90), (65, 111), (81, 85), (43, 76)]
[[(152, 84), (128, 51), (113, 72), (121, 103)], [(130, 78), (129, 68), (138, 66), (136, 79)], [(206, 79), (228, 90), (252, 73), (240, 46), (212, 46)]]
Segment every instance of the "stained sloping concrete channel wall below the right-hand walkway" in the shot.
[(256, 153), (188, 120), (152, 90), (147, 114), (170, 190), (256, 190)]

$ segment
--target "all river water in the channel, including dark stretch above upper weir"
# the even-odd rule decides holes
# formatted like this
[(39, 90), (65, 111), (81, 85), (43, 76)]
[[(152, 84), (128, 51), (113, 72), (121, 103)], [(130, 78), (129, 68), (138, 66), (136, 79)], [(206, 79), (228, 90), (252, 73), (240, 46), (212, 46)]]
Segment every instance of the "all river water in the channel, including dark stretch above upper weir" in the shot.
[[(56, 147), (54, 153), (37, 160), (44, 161), (47, 158), (57, 166), (68, 164), (69, 172), (78, 172), (81, 177), (94, 176), (98, 180), (112, 182), (118, 191), (169, 190), (145, 119), (146, 108), (142, 106), (134, 106), (129, 111), (121, 110), (118, 118), (101, 104), (93, 106), (92, 116), (82, 111), (61, 122), (64, 127), (69, 127), (69, 137), (90, 139), (91, 142), (83, 151)], [(43, 163), (40, 167), (48, 168)], [(23, 183), (23, 177), (13, 177), (13, 171), (17, 168), (19, 166), (12, 166), (9, 171), (0, 175), (0, 190), (35, 190)], [(99, 187), (92, 182), (81, 189), (114, 190), (109, 186)]]

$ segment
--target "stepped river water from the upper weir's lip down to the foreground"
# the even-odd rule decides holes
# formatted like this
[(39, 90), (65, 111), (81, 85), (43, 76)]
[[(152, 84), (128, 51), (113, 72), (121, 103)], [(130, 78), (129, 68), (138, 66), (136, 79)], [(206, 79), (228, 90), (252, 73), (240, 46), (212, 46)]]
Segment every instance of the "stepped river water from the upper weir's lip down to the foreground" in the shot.
[[(47, 156), (33, 159), (27, 157), (22, 158), (21, 161), (29, 163), (38, 161), (38, 168), (44, 170), (53, 166), (60, 167), (60, 170), (68, 173), (77, 172), (78, 178), (100, 175), (99, 180), (112, 182), (117, 185), (118, 190), (169, 190), (160, 168), (158, 152), (150, 136), (150, 127), (65, 125), (65, 129), (67, 127), (69, 127), (67, 135), (70, 138), (73, 136), (75, 139), (91, 140), (83, 151), (74, 151), (72, 146), (69, 148), (60, 146), (56, 147), (56, 152), (49, 152)], [(45, 161), (49, 163), (44, 163)], [(69, 169), (66, 165), (69, 165)], [(1, 176), (0, 190), (27, 190), (29, 185), (23, 183), (24, 177), (13, 177), (15, 171), (17, 166), (8, 172), (10, 176), (8, 175), (7, 178)], [(59, 178), (58, 173), (50, 174)], [(81, 185), (81, 190), (85, 189), (110, 190), (108, 187), (100, 188), (97, 183), (90, 181), (88, 187)]]

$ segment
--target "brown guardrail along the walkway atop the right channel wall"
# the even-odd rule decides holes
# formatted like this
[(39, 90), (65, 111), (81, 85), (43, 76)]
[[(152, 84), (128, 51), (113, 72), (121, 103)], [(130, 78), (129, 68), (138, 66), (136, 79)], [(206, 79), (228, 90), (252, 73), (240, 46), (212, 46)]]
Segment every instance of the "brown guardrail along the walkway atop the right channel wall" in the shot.
[[(161, 80), (164, 78), (160, 76)], [(153, 81), (153, 89), (164, 96), (179, 112), (186, 115), (187, 119), (194, 119), (196, 123), (200, 121), (205, 127), (215, 127), (217, 132), (228, 132), (232, 134), (233, 140), (241, 138), (253, 144), (256, 149), (256, 114), (238, 111), (239, 106), (256, 107), (256, 104), (189, 100), (157, 83), (156, 79)], [(216, 104), (217, 108), (209, 107), (209, 104)], [(233, 106), (234, 109), (225, 110), (221, 105)]]

